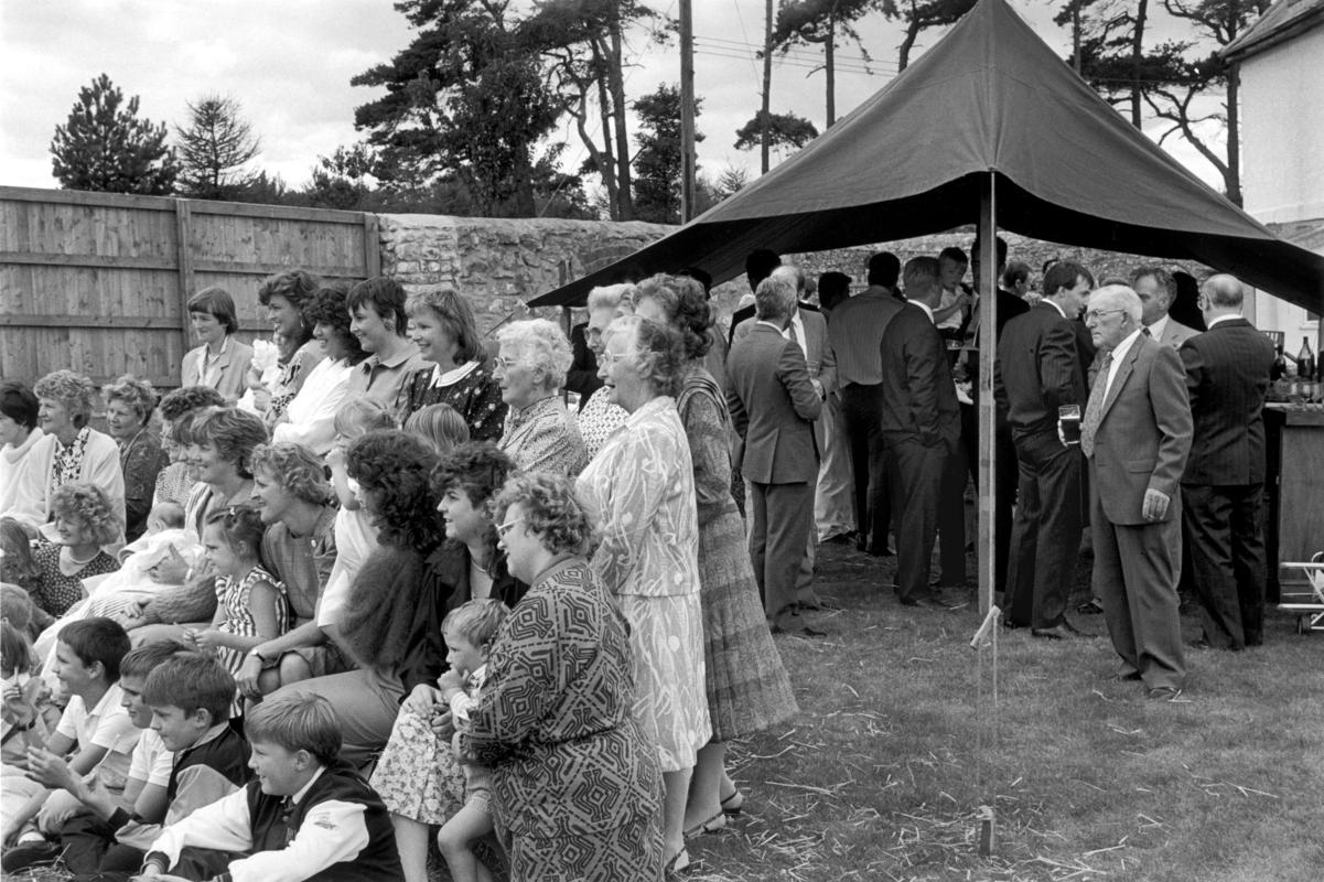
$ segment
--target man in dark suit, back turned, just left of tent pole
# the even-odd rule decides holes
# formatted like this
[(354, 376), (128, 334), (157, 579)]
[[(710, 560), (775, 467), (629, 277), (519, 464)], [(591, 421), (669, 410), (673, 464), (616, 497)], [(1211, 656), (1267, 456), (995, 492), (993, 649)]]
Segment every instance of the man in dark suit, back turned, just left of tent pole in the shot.
[[(923, 281), (922, 281), (923, 279)], [(883, 373), (882, 433), (888, 479), (898, 509), (896, 591), (907, 607), (951, 609), (964, 600), (948, 600), (941, 587), (929, 585), (929, 559), (939, 530), (943, 477), (949, 467), (964, 477), (960, 457), (961, 413), (947, 360), (943, 335), (933, 326), (941, 299), (937, 258), (915, 257), (906, 265), (908, 302), (887, 324), (880, 346)], [(964, 584), (965, 543), (948, 548), (953, 536), (944, 531), (941, 584)], [(947, 572), (960, 558), (960, 576)], [(951, 562), (948, 563), (948, 560)]]

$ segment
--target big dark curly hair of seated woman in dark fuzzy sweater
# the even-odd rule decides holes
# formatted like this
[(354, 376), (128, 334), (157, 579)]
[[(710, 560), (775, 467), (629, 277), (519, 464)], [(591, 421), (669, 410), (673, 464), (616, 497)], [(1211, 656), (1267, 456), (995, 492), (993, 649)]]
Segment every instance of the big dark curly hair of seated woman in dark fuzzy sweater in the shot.
[(377, 542), (429, 554), (444, 534), (429, 475), (437, 454), (418, 437), (377, 429), (356, 438), (346, 452), (346, 470), (364, 493), (379, 494)]

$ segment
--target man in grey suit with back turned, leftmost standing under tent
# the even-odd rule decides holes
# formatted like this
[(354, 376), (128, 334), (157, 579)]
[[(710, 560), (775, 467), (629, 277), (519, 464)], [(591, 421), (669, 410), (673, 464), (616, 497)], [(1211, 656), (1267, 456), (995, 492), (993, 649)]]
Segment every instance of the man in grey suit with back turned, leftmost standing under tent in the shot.
[(755, 291), (757, 322), (727, 356), (727, 407), (741, 441), (740, 470), (749, 483), (749, 558), (773, 633), (822, 637), (796, 603), (796, 575), (814, 523), (818, 444), (813, 422), (822, 399), (805, 354), (782, 336), (796, 286), (769, 277)]

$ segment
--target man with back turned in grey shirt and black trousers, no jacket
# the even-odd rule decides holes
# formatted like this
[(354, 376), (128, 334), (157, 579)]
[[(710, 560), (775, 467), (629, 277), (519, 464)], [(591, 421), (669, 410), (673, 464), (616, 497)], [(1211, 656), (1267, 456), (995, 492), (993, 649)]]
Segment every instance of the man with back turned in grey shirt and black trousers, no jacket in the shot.
[(895, 254), (880, 252), (870, 257), (869, 287), (837, 306), (828, 326), (854, 469), (857, 544), (874, 555), (890, 554), (891, 494), (879, 428), (883, 383), (879, 346), (887, 323), (903, 306), (895, 297), (900, 269)]

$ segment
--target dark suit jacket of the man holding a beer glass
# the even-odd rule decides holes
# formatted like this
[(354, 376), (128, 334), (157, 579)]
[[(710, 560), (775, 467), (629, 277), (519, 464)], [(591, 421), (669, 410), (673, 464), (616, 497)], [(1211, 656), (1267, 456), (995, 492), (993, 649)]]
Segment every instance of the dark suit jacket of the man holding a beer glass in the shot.
[(993, 393), (1017, 441), (1049, 436), (1058, 442), (1058, 408), (1078, 404), (1084, 412), (1088, 392), (1075, 326), (1053, 303), (1041, 302), (1002, 328)]

